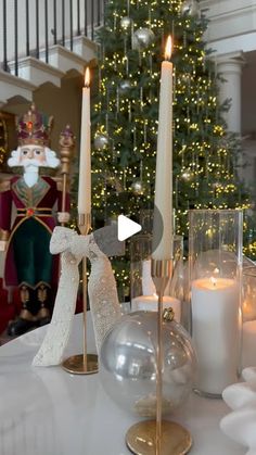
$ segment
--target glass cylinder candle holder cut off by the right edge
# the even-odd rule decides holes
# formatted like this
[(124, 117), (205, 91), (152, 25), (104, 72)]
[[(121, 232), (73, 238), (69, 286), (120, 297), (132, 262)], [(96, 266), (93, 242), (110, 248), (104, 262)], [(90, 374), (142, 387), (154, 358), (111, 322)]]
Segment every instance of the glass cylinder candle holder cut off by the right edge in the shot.
[(242, 367), (256, 366), (256, 265), (243, 265)]

